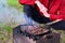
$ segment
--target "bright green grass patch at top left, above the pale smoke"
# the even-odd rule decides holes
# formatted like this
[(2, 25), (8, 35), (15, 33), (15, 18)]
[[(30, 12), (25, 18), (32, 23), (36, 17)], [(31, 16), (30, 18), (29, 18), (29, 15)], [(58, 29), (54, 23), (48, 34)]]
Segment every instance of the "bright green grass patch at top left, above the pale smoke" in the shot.
[(18, 3), (18, 0), (6, 0), (9, 6), (16, 8), (20, 11), (23, 11), (23, 5)]

